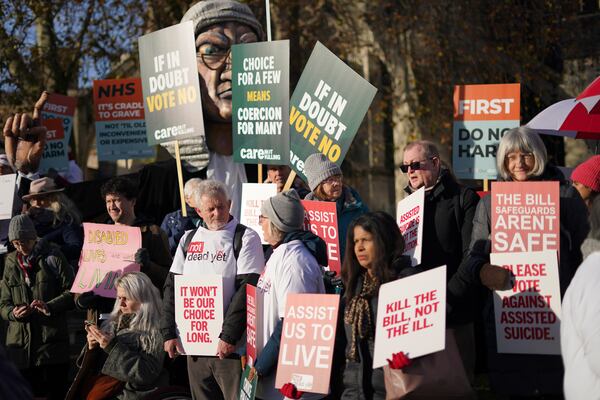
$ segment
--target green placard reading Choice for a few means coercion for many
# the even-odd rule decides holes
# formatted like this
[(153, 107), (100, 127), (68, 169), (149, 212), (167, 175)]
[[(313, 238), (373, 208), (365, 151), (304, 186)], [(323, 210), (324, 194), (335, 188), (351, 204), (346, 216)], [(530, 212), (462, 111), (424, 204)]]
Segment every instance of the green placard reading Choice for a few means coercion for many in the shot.
[(290, 42), (231, 46), (233, 159), (289, 163)]

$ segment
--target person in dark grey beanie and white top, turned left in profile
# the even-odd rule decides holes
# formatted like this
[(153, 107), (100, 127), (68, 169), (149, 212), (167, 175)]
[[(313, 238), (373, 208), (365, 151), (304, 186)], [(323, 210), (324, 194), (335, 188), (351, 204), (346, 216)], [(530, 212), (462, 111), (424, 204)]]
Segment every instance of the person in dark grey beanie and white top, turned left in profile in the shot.
[[(327, 265), (325, 242), (304, 231), (304, 208), (294, 189), (278, 193), (262, 203), (260, 226), (265, 241), (274, 249), (260, 276), (257, 290), (263, 295), (263, 343), (254, 360), (250, 379), (259, 376), (256, 397), (280, 400), (285, 394), (275, 389), (277, 357), (281, 342), (285, 299), (289, 293), (325, 293), (320, 266)], [(322, 394), (303, 393), (303, 399), (320, 399)]]

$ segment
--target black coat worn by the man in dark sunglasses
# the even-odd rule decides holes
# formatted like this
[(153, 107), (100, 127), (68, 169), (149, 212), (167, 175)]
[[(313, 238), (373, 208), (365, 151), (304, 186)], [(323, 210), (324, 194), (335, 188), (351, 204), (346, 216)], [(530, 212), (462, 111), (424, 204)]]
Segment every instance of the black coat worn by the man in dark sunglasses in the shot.
[[(404, 190), (412, 193), (408, 186)], [(442, 170), (438, 182), (425, 194), (420, 264), (423, 270), (446, 265), (446, 279), (451, 282), (469, 253), (477, 203), (479, 196), (475, 191), (456, 182), (448, 170)], [(469, 291), (461, 298), (452, 297), (451, 284), (448, 291), (448, 300), (451, 302), (448, 324), (472, 321), (472, 293)]]

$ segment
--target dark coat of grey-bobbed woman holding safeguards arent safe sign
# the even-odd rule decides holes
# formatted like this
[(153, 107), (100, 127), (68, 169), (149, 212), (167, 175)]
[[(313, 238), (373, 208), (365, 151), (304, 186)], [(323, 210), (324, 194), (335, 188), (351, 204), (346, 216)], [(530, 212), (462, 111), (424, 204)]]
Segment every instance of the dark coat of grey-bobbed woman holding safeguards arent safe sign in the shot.
[[(580, 246), (588, 230), (587, 210), (579, 193), (569, 185), (562, 173), (547, 166), (536, 180), (560, 182), (560, 261), (559, 278), (561, 297), (564, 295), (575, 270), (581, 264)], [(470, 279), (481, 284), (479, 272), (489, 263), (491, 251), (491, 196), (482, 199), (473, 221), (469, 258), (465, 263)], [(484, 304), (488, 367), (492, 388), (496, 393), (531, 396), (562, 394), (564, 369), (560, 356), (533, 354), (499, 354), (496, 348), (493, 293), (488, 291)]]

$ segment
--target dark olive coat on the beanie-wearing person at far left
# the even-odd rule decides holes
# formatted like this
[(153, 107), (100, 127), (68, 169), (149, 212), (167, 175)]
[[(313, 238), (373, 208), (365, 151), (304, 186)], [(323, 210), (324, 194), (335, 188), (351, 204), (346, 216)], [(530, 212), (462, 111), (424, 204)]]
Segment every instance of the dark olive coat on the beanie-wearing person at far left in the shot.
[[(38, 239), (28, 286), (18, 265), (17, 252), (6, 256), (4, 276), (0, 281), (0, 315), (9, 321), (6, 350), (19, 369), (62, 364), (69, 361), (69, 335), (66, 311), (74, 307), (73, 269), (58, 247)], [(17, 320), (13, 309), (33, 300), (44, 301), (50, 316), (34, 311)]]

